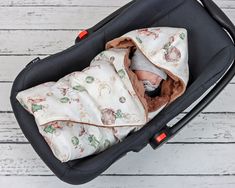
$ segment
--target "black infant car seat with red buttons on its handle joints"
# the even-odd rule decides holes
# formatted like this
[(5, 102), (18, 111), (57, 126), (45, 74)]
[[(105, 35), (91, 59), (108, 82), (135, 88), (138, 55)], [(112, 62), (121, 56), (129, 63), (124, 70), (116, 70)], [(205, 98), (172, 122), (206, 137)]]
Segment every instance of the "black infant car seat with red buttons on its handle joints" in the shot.
[[(39, 133), (34, 117), (16, 100), (17, 93), (84, 69), (104, 50), (106, 42), (128, 31), (164, 26), (186, 28), (188, 31), (190, 83), (184, 95), (123, 142), (102, 153), (61, 163)], [(235, 74), (234, 39), (233, 23), (212, 0), (133, 0), (80, 33), (72, 47), (30, 62), (14, 81), (11, 105), (26, 138), (54, 174), (67, 183), (83, 184), (130, 151), (138, 152), (149, 143), (154, 149), (158, 148), (203, 110)], [(178, 123), (172, 127), (166, 126), (215, 83), (213, 89)]]

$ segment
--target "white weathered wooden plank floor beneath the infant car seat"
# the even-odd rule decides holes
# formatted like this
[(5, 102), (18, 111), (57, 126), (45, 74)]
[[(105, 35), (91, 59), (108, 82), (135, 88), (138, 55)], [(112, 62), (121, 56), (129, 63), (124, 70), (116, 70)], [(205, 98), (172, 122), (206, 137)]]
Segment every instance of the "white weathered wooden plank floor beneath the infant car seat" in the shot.
[[(1, 188), (75, 187), (57, 179), (33, 151), (14, 119), (10, 88), (15, 76), (31, 59), (71, 46), (78, 30), (92, 26), (127, 2), (0, 1)], [(216, 3), (235, 22), (235, 0)], [(234, 188), (234, 93), (235, 79), (164, 147), (129, 153), (100, 177), (79, 187)]]

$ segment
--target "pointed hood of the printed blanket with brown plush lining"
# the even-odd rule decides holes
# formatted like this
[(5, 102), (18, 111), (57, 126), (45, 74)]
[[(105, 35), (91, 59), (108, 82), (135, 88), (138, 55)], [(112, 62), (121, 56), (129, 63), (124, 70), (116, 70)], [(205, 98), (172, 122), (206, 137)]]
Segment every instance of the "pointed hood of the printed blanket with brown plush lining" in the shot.
[(129, 48), (130, 51), (138, 48), (151, 63), (168, 74), (160, 96), (151, 98), (144, 94), (143, 84), (130, 70), (131, 61), (126, 58), (124, 62), (135, 91), (149, 113), (154, 115), (162, 106), (170, 104), (185, 92), (189, 80), (186, 29), (155, 27), (134, 30), (106, 44), (106, 49), (112, 48)]

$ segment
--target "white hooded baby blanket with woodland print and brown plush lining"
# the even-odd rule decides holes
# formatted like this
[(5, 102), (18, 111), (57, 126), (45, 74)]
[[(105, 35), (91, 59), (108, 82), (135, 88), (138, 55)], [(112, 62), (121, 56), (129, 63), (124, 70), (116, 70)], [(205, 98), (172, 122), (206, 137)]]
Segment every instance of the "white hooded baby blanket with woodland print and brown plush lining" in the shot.
[[(135, 51), (142, 56), (135, 57), (138, 65), (144, 57), (167, 75), (155, 97), (130, 68)], [(184, 93), (188, 79), (187, 31), (145, 28), (109, 41), (84, 70), (21, 91), (17, 99), (54, 155), (66, 162), (101, 152), (142, 128)]]

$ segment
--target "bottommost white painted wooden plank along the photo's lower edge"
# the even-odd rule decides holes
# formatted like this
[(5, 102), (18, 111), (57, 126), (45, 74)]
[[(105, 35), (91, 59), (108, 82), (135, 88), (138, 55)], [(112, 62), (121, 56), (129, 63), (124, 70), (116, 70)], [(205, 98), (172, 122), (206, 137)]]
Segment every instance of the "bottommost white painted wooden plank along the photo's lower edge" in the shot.
[[(132, 187), (173, 187), (173, 188), (234, 188), (235, 179), (227, 176), (101, 176), (83, 186), (57, 183), (55, 177), (0, 177), (4, 185), (12, 182), (8, 188), (132, 188)], [(110, 183), (112, 182), (112, 183)], [(172, 185), (174, 184), (174, 185)]]

